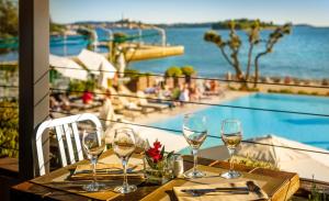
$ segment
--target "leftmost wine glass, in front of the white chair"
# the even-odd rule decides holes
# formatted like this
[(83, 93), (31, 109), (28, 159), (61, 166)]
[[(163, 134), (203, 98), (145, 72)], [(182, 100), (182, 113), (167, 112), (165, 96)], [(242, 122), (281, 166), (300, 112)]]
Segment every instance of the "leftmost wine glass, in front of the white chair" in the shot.
[(104, 185), (97, 181), (97, 163), (99, 156), (105, 148), (105, 134), (101, 127), (84, 130), (82, 135), (82, 146), (92, 165), (92, 182), (82, 188), (88, 192), (101, 190)]

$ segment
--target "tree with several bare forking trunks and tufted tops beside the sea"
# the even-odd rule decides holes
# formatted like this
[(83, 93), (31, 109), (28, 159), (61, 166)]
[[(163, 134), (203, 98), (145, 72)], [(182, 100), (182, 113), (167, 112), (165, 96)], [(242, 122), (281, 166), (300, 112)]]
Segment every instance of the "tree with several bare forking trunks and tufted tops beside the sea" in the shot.
[(204, 34), (204, 40), (206, 42), (214, 43), (219, 49), (227, 63), (235, 69), (236, 78), (241, 81), (241, 88), (248, 88), (247, 81), (250, 79), (251, 60), (252, 53), (256, 46), (260, 44), (265, 44), (265, 51), (259, 53), (254, 57), (254, 87), (257, 87), (257, 81), (259, 78), (259, 59), (271, 53), (274, 45), (282, 38), (285, 34), (291, 32), (291, 24), (284, 24), (282, 26), (276, 26), (276, 29), (269, 35), (266, 40), (260, 38), (260, 21), (256, 20), (252, 24), (248, 26), (246, 33), (248, 35), (248, 58), (246, 72), (242, 71), (241, 64), (239, 60), (239, 51), (241, 48), (242, 42), (240, 36), (236, 33), (235, 21), (229, 21), (227, 26), (229, 27), (229, 36), (224, 40), (217, 32), (208, 31)]

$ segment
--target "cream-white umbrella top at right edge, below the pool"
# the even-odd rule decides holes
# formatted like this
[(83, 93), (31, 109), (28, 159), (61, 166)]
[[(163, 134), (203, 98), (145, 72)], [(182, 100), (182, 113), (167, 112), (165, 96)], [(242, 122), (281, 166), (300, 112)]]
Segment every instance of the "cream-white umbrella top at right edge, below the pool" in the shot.
[[(329, 150), (309, 146), (275, 135), (252, 138), (250, 141), (274, 146), (242, 143), (237, 155), (275, 164), (282, 170), (297, 172), (303, 178), (329, 181)], [(283, 148), (292, 147), (291, 148)], [(314, 150), (305, 152), (300, 149)], [(328, 153), (320, 154), (315, 152)]]

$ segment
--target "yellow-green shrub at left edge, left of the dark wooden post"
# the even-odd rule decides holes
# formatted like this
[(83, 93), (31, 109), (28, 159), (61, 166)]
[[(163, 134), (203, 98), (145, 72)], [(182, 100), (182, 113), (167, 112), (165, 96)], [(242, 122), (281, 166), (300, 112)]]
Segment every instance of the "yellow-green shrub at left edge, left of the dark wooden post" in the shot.
[[(14, 107), (14, 108), (11, 108)], [(19, 109), (18, 102), (0, 102), (0, 157), (19, 155)]]

